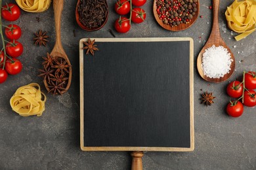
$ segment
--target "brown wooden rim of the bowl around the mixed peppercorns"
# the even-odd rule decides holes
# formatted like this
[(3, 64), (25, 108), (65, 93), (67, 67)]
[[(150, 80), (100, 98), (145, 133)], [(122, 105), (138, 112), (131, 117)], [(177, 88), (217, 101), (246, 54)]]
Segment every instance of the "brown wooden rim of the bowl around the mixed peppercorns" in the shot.
[(154, 4), (153, 4), (153, 12), (154, 12), (154, 16), (156, 18), (156, 21), (158, 22), (159, 25), (161, 25), (161, 27), (163, 27), (164, 29), (167, 29), (169, 31), (182, 31), (184, 29), (188, 29), (189, 27), (191, 27), (191, 25), (194, 24), (194, 22), (196, 22), (196, 19), (198, 18), (198, 15), (199, 15), (199, 11), (200, 11), (200, 3), (198, 0), (197, 2), (197, 5), (196, 5), (196, 8), (198, 9), (196, 11), (196, 14), (193, 16), (192, 20), (188, 23), (188, 24), (180, 24), (180, 25), (177, 25), (175, 27), (171, 27), (171, 25), (167, 25), (167, 24), (163, 24), (163, 21), (160, 20), (159, 16), (158, 16), (158, 12), (156, 11), (157, 10), (157, 6), (156, 6), (156, 2), (158, 0), (154, 0)]

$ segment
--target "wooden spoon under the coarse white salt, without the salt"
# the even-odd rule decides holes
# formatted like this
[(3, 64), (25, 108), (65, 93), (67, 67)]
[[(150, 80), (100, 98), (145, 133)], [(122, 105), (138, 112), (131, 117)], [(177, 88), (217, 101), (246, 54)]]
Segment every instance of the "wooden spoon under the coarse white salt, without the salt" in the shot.
[[(197, 61), (198, 73), (200, 74), (200, 76), (202, 76), (202, 78), (204, 80), (206, 80), (208, 82), (223, 82), (224, 80), (228, 79), (232, 75), (232, 73), (234, 72), (234, 68), (235, 68), (234, 55), (232, 54), (230, 48), (228, 48), (228, 46), (225, 44), (225, 42), (221, 38), (221, 33), (219, 31), (219, 1), (220, 0), (213, 0), (213, 26), (211, 28), (211, 35), (210, 35), (208, 41), (206, 42), (205, 46), (203, 46), (200, 54), (198, 54), (198, 61)], [(226, 75), (224, 75), (221, 78), (209, 78), (209, 77), (203, 75), (203, 69), (202, 69), (203, 53), (205, 52), (205, 49), (207, 49), (213, 45), (223, 46), (224, 48), (226, 48), (228, 50), (228, 52), (230, 52), (230, 56), (233, 59), (231, 65), (230, 65), (229, 73), (227, 73)]]

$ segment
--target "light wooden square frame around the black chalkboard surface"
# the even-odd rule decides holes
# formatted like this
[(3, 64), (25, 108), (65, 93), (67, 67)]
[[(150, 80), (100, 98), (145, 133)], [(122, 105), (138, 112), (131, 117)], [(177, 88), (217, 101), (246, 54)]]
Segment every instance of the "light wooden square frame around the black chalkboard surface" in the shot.
[(150, 41), (189, 41), (190, 42), (190, 147), (125, 147), (125, 146), (100, 146), (100, 147), (85, 147), (84, 146), (84, 104), (83, 104), (83, 42), (88, 39), (81, 39), (79, 41), (79, 73), (80, 73), (80, 147), (83, 151), (167, 151), (167, 152), (191, 152), (194, 150), (194, 42), (191, 38), (179, 37), (161, 37), (161, 38), (91, 38), (96, 42), (150, 42)]

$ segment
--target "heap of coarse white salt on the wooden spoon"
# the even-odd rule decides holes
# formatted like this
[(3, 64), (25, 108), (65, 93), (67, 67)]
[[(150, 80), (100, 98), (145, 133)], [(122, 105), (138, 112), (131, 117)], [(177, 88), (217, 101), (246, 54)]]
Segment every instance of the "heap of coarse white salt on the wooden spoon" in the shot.
[(203, 75), (209, 78), (221, 78), (230, 71), (233, 59), (223, 46), (211, 46), (205, 50), (202, 58)]

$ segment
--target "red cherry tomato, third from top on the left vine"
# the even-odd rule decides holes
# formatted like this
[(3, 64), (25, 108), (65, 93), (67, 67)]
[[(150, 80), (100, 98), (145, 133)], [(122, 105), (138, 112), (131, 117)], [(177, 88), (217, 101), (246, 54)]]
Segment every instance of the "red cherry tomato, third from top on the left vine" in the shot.
[(23, 46), (20, 42), (14, 40), (14, 41), (9, 41), (6, 44), (6, 52), (9, 56), (12, 58), (18, 58), (23, 52)]

